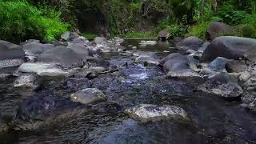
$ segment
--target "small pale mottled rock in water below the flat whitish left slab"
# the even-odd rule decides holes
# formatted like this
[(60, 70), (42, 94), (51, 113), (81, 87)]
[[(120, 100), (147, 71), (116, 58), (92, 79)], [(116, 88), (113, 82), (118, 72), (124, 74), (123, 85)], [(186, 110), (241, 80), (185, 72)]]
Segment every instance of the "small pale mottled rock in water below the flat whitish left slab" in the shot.
[(25, 87), (35, 90), (39, 87), (37, 76), (35, 74), (22, 74), (15, 80), (14, 87)]

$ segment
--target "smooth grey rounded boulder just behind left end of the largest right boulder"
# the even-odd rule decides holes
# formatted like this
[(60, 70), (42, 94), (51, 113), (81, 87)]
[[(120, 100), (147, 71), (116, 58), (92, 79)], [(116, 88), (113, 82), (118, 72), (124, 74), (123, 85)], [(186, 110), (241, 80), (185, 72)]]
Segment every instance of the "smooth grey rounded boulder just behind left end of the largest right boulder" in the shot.
[(178, 49), (182, 50), (198, 50), (202, 46), (204, 41), (197, 37), (188, 37), (178, 42)]

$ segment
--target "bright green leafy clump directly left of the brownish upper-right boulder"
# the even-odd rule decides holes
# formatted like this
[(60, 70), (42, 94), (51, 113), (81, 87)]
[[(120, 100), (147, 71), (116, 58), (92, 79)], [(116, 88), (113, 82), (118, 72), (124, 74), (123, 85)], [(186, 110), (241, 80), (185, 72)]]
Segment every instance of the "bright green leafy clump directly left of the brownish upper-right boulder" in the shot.
[(195, 36), (198, 38), (205, 39), (206, 30), (209, 24), (210, 22), (202, 22), (197, 25), (190, 26), (189, 32), (186, 34), (186, 36)]

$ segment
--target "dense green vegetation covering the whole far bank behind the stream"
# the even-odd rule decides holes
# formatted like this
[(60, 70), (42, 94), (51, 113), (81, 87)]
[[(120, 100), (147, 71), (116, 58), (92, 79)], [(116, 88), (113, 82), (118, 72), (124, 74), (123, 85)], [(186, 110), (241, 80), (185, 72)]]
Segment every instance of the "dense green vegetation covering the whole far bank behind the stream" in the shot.
[(90, 38), (155, 37), (163, 29), (204, 38), (212, 21), (256, 38), (254, 0), (0, 0), (0, 7), (0, 38), (11, 42), (50, 41), (74, 27)]

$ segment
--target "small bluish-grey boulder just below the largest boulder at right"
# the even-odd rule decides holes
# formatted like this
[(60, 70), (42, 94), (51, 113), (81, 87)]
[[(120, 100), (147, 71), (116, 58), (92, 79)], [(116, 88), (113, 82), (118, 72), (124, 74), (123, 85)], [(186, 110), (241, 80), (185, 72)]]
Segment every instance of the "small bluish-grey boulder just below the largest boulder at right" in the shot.
[(210, 64), (208, 65), (210, 70), (214, 70), (217, 72), (223, 72), (226, 71), (226, 62), (228, 62), (229, 60), (226, 58), (222, 58), (222, 57), (218, 57), (216, 59), (214, 59), (213, 62), (210, 62)]

